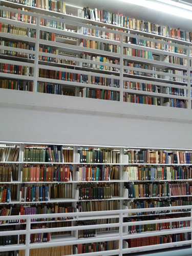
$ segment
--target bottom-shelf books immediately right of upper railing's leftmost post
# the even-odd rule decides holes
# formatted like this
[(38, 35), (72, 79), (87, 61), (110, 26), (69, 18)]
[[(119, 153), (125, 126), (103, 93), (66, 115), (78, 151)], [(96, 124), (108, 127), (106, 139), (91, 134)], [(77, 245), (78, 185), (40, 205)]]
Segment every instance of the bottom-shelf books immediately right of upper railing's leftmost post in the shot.
[(75, 96), (75, 89), (59, 83), (37, 82), (38, 93)]

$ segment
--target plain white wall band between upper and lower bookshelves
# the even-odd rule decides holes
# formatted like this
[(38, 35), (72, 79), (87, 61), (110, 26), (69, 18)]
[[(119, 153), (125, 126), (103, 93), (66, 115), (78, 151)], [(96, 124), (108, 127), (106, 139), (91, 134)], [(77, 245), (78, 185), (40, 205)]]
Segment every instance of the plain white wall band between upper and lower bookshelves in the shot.
[(0, 89), (0, 140), (192, 148), (191, 110)]

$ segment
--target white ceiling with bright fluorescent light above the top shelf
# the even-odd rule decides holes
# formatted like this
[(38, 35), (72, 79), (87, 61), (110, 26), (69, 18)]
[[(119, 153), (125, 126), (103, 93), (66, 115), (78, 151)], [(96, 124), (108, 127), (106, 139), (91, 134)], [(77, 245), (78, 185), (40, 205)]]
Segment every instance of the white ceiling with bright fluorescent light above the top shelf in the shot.
[[(172, 14), (163, 13), (158, 10), (152, 10), (150, 8), (125, 3), (121, 0), (65, 0), (65, 2), (74, 6), (78, 5), (81, 8), (88, 6), (91, 9), (97, 8), (115, 13), (119, 12), (128, 17), (144, 19), (158, 25), (166, 25), (172, 28), (180, 28), (185, 29), (186, 31), (192, 31), (192, 20), (190, 19), (181, 18)], [(188, 2), (191, 3), (192, 0)]]

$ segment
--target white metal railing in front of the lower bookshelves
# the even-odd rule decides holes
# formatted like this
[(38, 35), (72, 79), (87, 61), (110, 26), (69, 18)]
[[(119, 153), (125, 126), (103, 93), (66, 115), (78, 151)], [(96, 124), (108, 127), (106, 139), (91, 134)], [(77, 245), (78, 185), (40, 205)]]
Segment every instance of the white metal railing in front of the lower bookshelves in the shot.
[[(148, 245), (148, 246), (141, 246), (141, 247), (133, 247), (128, 248), (127, 243), (124, 240), (126, 239), (133, 239), (133, 238), (140, 238), (140, 237), (153, 237), (153, 236), (164, 236), (166, 234), (176, 234), (176, 233), (186, 233), (191, 232), (192, 227), (191, 224), (189, 227), (185, 228), (174, 228), (174, 229), (166, 229), (161, 231), (153, 231), (153, 232), (141, 232), (141, 233), (134, 233), (134, 234), (127, 234), (123, 227), (128, 226), (135, 226), (135, 225), (145, 225), (145, 224), (152, 224), (152, 223), (166, 223), (166, 222), (175, 222), (175, 221), (187, 221), (191, 222), (190, 217), (182, 217), (182, 218), (170, 218), (170, 219), (160, 219), (160, 220), (150, 220), (150, 221), (139, 221), (139, 222), (123, 222), (123, 218), (128, 216), (132, 212), (142, 212), (142, 211), (162, 211), (162, 210), (180, 210), (180, 209), (190, 209), (191, 212), (192, 206), (174, 206), (174, 207), (156, 207), (156, 208), (144, 208), (144, 209), (129, 209), (129, 210), (113, 210), (113, 211), (95, 211), (94, 215), (96, 216), (95, 219), (104, 219), (104, 218), (118, 218), (118, 223), (113, 224), (101, 224), (99, 228), (109, 228), (109, 227), (118, 227), (118, 231), (115, 233), (105, 234), (104, 241), (119, 241), (119, 249), (117, 250), (109, 250), (109, 251), (102, 251), (102, 255), (114, 255), (118, 254), (123, 255), (124, 253), (131, 253), (135, 251), (145, 251), (145, 250), (153, 250), (153, 249), (160, 249), (160, 248), (168, 248), (174, 246), (182, 246), (182, 245), (191, 245), (192, 240), (188, 241), (180, 241), (180, 242), (172, 242), (166, 244), (158, 244), (158, 245)], [(24, 216), (4, 216), (0, 217), (0, 221), (2, 220), (26, 220), (26, 229), (25, 230), (15, 230), (15, 231), (2, 231), (0, 236), (13, 236), (14, 234), (26, 234), (26, 243), (24, 245), (9, 245), (9, 246), (0, 246), (0, 251), (8, 251), (8, 250), (26, 250), (26, 256), (29, 256), (29, 250), (33, 248), (44, 248), (44, 247), (52, 247), (52, 246), (63, 246), (63, 245), (77, 245), (82, 243), (91, 243), (91, 242), (103, 242), (103, 236), (98, 234), (95, 238), (91, 239), (76, 239), (74, 236), (69, 236), (66, 240), (61, 239), (61, 241), (50, 241), (46, 243), (33, 243), (30, 244), (30, 234), (32, 233), (47, 233), (47, 232), (57, 232), (57, 231), (75, 231), (77, 230), (86, 230), (86, 229), (94, 229), (98, 228), (97, 225), (86, 225), (86, 226), (71, 226), (71, 227), (59, 227), (59, 228), (41, 228), (41, 229), (32, 229), (31, 219), (41, 219), (41, 218), (59, 218), (59, 217), (73, 217), (75, 220), (89, 220), (92, 219), (93, 212), (71, 212), (68, 214), (42, 214), (42, 215), (24, 215)], [(38, 222), (40, 223), (40, 222)], [(94, 252), (90, 253), (89, 255), (100, 255), (101, 252)], [(72, 254), (71, 254), (72, 255)], [(83, 254), (79, 254), (83, 255)], [(86, 254), (87, 255), (87, 254)]]

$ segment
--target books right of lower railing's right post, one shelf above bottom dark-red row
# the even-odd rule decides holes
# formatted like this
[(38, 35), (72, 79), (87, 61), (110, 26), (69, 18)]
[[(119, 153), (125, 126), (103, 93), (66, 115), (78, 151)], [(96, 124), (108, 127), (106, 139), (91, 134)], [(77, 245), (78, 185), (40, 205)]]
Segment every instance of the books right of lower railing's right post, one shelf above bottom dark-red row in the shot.
[(150, 216), (150, 218), (148, 218), (148, 216), (145, 216), (145, 217), (140, 217), (140, 218), (124, 218), (124, 222), (148, 221), (148, 220), (153, 221), (153, 220), (167, 219), (167, 222), (163, 222), (163, 223), (141, 224), (141, 225), (128, 226), (128, 233), (132, 234), (132, 233), (141, 233), (141, 232), (160, 231), (160, 230), (164, 230), (164, 229), (175, 229), (175, 228), (189, 227), (190, 221), (170, 222), (172, 218), (182, 218), (182, 217), (184, 217), (183, 214), (176, 215), (176, 216), (171, 215), (170, 217), (168, 217), (168, 216), (163, 216), (163, 217)]

